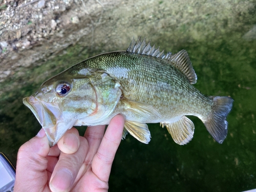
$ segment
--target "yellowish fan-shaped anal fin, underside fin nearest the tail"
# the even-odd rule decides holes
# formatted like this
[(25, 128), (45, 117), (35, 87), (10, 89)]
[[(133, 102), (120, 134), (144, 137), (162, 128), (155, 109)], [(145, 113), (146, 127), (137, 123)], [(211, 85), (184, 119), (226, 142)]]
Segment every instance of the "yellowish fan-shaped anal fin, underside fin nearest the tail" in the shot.
[(194, 123), (185, 116), (176, 122), (161, 122), (160, 124), (166, 126), (173, 140), (179, 145), (187, 144), (193, 138)]

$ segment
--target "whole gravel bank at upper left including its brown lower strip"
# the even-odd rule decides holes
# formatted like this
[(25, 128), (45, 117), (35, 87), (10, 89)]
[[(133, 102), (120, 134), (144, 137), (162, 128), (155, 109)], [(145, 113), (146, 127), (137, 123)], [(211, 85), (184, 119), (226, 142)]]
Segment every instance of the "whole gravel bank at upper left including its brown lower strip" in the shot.
[(0, 0), (0, 82), (75, 44), (84, 35), (79, 30), (92, 25), (91, 15), (109, 2)]

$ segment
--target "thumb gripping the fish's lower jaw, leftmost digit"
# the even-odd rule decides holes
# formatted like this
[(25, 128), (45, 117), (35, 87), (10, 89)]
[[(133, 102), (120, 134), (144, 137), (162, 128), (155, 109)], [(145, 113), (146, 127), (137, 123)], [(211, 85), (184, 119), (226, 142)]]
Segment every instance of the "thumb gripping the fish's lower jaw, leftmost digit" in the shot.
[[(33, 188), (39, 191), (47, 184), (47, 155), (50, 151), (45, 131), (41, 129), (37, 136), (20, 146), (17, 155), (15, 191), (27, 191)], [(26, 176), (26, 177), (24, 177)]]

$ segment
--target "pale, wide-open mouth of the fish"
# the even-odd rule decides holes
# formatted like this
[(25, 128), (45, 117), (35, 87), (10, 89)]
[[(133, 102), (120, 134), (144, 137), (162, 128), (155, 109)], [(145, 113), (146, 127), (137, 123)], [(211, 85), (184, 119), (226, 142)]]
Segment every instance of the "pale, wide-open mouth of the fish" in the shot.
[(45, 130), (49, 145), (55, 145), (62, 135), (61, 137), (56, 136), (57, 123), (53, 113), (36, 97), (25, 97), (23, 103), (32, 111), (42, 128)]

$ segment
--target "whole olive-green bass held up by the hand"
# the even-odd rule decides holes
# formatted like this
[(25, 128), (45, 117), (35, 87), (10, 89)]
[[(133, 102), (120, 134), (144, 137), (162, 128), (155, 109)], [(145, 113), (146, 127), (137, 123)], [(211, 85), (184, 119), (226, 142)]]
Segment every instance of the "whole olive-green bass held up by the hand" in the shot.
[(224, 141), (233, 99), (206, 96), (193, 86), (197, 75), (185, 50), (164, 54), (150, 44), (133, 38), (126, 51), (83, 60), (23, 99), (50, 146), (73, 126), (109, 124), (117, 114), (125, 118), (123, 139), (130, 133), (148, 143), (146, 123), (160, 122), (177, 144), (184, 145), (194, 135), (194, 123), (186, 117), (192, 115), (218, 143)]

